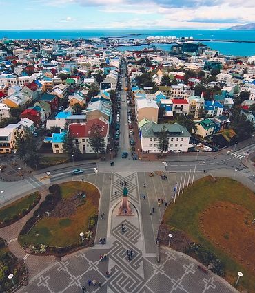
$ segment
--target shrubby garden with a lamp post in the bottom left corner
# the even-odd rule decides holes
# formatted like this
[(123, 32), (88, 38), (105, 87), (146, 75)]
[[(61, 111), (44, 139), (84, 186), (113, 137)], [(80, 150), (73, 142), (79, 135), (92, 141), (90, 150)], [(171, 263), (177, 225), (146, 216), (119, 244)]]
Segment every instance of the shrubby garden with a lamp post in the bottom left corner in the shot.
[[(10, 274), (13, 274), (12, 280), (8, 278)], [(8, 250), (6, 241), (0, 238), (0, 292), (11, 292), (14, 285), (19, 285), (26, 280), (27, 270), (23, 259), (17, 259)]]

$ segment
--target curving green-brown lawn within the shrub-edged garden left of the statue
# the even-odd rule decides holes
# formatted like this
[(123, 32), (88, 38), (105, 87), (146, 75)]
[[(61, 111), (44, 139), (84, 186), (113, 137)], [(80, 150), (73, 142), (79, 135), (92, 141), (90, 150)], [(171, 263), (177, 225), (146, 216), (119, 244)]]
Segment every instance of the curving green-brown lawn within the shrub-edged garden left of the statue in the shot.
[(62, 200), (70, 199), (77, 191), (85, 191), (85, 204), (77, 206), (69, 217), (43, 217), (28, 235), (20, 235), (21, 244), (45, 244), (66, 247), (80, 241), (80, 232), (86, 232), (90, 217), (97, 215), (98, 189), (87, 182), (65, 182), (60, 184)]

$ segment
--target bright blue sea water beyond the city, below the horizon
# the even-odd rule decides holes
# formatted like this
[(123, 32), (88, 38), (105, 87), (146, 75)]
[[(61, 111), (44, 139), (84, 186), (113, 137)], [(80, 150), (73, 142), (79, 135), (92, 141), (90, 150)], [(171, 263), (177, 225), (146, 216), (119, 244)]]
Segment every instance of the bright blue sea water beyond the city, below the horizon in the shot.
[[(137, 35), (132, 35), (137, 34)], [(99, 37), (145, 39), (147, 36), (193, 36), (194, 39), (255, 41), (255, 31), (234, 30), (0, 30), (0, 39), (76, 39)], [(252, 56), (255, 43), (224, 43), (203, 41), (223, 54)], [(166, 45), (166, 47), (170, 45)]]

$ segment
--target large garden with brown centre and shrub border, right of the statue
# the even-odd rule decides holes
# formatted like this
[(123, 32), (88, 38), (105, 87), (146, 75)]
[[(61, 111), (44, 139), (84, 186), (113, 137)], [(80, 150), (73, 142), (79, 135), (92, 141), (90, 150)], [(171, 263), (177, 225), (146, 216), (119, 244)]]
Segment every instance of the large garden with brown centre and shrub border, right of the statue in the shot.
[(173, 237), (175, 250), (190, 254), (208, 269), (249, 292), (255, 288), (255, 195), (229, 178), (205, 177), (171, 204), (159, 229), (162, 243)]

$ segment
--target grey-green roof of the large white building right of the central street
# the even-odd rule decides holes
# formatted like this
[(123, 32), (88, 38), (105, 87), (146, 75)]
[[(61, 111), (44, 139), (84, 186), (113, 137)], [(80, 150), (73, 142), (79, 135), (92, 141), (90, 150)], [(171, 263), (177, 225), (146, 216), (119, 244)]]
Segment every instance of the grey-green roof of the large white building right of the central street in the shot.
[(161, 132), (163, 126), (165, 126), (169, 136), (190, 138), (190, 133), (187, 131), (186, 127), (183, 127), (178, 123), (156, 124), (152, 121), (147, 122), (141, 127), (143, 138), (153, 138), (154, 136), (158, 136), (158, 133)]

